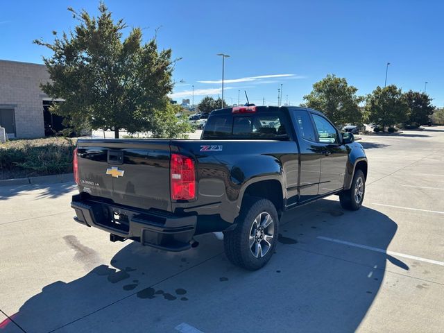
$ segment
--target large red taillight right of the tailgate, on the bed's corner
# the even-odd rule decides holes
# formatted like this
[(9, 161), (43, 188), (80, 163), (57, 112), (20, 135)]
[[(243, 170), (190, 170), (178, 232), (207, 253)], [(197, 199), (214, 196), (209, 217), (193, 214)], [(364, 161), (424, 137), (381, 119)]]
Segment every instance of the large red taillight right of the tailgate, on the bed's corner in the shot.
[(196, 198), (196, 167), (190, 157), (171, 154), (170, 174), (172, 200)]

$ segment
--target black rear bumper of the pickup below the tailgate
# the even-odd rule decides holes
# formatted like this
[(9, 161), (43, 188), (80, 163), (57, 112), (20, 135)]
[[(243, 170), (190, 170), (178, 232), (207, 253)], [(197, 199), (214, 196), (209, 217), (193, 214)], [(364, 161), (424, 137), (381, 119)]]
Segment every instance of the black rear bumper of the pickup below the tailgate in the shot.
[(196, 216), (146, 212), (89, 200), (80, 194), (72, 197), (71, 207), (76, 211), (74, 220), (78, 223), (162, 250), (189, 249), (196, 232)]

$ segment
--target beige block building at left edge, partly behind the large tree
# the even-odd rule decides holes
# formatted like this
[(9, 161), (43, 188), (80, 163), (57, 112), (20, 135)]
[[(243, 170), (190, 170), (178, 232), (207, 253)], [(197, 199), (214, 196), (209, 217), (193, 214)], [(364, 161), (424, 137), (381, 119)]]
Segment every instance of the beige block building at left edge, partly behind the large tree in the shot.
[(0, 127), (8, 137), (44, 137), (51, 128), (51, 99), (40, 89), (48, 80), (44, 65), (0, 60)]

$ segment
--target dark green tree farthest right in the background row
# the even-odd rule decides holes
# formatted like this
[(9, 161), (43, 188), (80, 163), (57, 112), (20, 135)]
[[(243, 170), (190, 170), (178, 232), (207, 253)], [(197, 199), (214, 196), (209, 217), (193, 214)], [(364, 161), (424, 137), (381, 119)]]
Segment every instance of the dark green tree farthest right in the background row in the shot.
[(409, 105), (410, 115), (409, 123), (421, 126), (424, 123), (428, 123), (430, 116), (435, 110), (432, 105), (432, 99), (424, 92), (409, 92), (405, 93), (407, 104)]

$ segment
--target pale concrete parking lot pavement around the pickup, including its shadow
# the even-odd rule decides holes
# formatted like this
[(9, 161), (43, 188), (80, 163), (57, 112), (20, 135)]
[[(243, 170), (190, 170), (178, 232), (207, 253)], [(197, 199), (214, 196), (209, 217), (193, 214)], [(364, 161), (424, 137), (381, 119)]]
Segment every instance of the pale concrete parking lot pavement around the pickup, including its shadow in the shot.
[(444, 126), (366, 136), (364, 207), (289, 212), (260, 271), (72, 220), (71, 183), (0, 187), (0, 331), (444, 332)]

